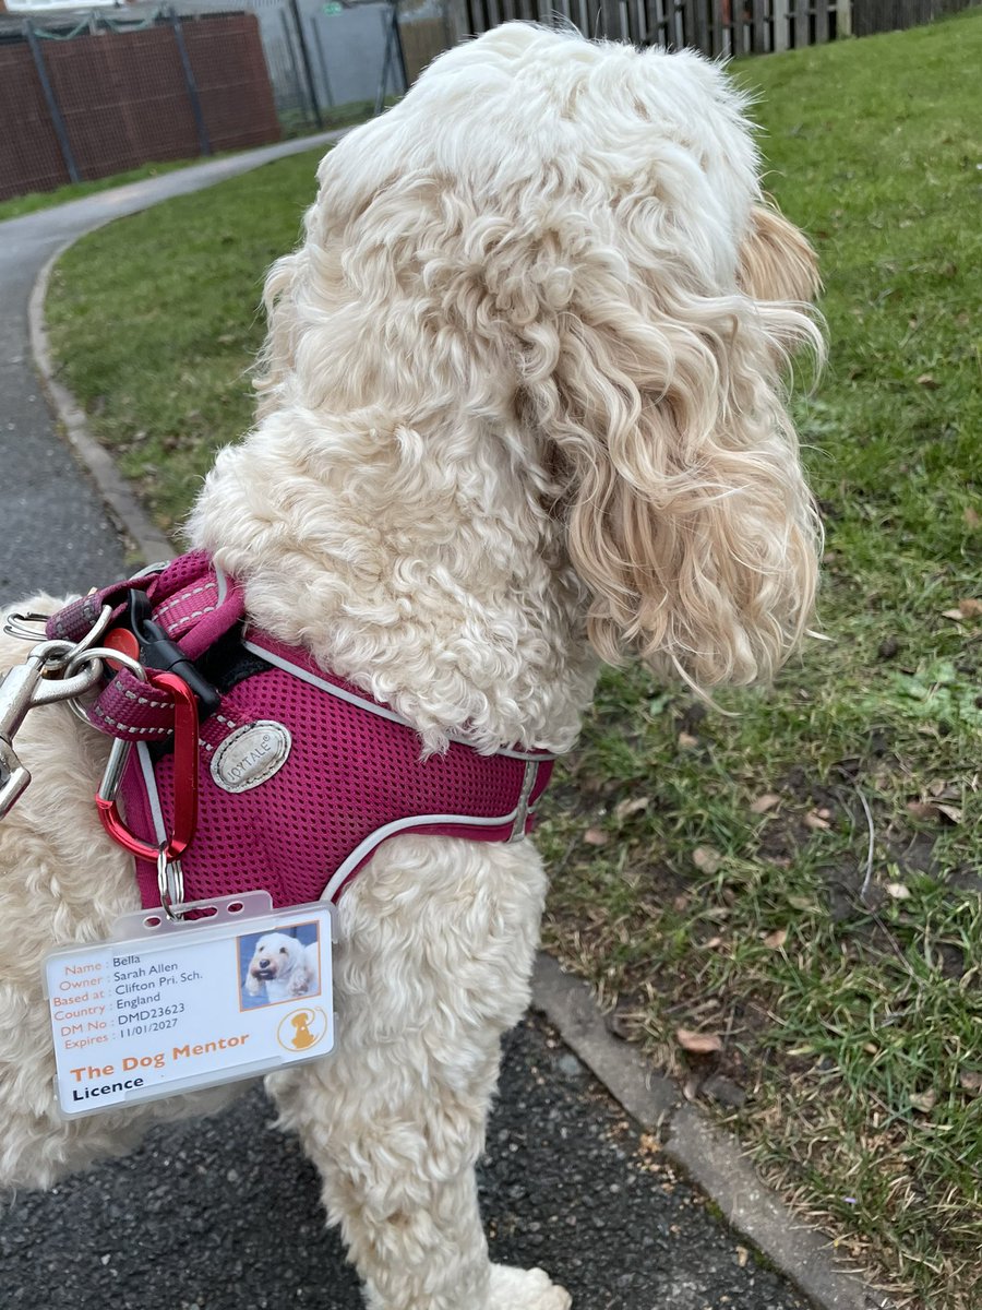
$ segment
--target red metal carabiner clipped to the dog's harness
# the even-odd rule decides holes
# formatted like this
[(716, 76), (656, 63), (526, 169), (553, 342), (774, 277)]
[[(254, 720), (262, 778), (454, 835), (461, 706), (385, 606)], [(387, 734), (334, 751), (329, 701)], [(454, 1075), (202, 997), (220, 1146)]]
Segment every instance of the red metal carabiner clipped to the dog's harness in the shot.
[[(147, 669), (147, 683), (169, 692), (174, 700), (174, 815), (170, 836), (162, 854), (168, 863), (179, 859), (191, 845), (198, 828), (198, 701), (191, 688), (177, 673)], [(117, 795), (123, 778), (131, 741), (117, 740), (106, 773), (96, 796), (96, 808), (113, 841), (137, 859), (156, 863), (161, 850), (141, 841), (123, 823), (117, 808)]]

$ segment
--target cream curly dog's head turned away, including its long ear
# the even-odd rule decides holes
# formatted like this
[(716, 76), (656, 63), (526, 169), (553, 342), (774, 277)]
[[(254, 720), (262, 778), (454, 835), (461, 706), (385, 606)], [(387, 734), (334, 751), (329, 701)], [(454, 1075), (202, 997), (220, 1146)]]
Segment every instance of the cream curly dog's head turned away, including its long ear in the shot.
[(263, 406), (405, 414), (401, 441), (482, 424), (601, 656), (699, 688), (769, 676), (820, 540), (782, 371), (821, 337), (812, 250), (761, 193), (723, 71), (505, 24), (319, 183), (267, 284)]

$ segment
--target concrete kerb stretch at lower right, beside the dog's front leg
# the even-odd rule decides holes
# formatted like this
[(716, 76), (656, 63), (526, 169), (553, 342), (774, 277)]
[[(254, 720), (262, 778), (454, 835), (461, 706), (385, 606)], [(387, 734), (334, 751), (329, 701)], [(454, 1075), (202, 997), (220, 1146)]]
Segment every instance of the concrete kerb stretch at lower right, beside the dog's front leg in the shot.
[(725, 1220), (820, 1310), (892, 1310), (892, 1302), (845, 1269), (829, 1239), (808, 1227), (757, 1176), (736, 1137), (682, 1100), (678, 1086), (656, 1073), (642, 1052), (614, 1038), (591, 988), (539, 954), (532, 1003), (611, 1096), (680, 1166)]

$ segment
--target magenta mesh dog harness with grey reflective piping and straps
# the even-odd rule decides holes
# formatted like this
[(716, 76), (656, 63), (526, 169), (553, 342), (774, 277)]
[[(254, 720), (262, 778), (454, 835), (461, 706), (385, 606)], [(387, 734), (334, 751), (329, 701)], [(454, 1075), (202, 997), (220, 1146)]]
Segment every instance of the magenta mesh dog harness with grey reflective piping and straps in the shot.
[[(554, 756), (479, 755), (452, 740), (420, 757), (394, 710), (245, 620), (241, 588), (207, 554), (73, 601), (47, 624), (80, 641), (103, 605), (140, 638), (140, 660), (198, 694), (198, 827), (181, 857), (185, 900), (263, 888), (274, 905), (335, 900), (389, 837), (414, 832), (515, 841), (532, 828)], [(89, 709), (102, 732), (134, 741), (120, 799), (152, 848), (175, 806), (174, 698), (118, 672)], [(161, 904), (157, 869), (136, 861), (144, 908)]]

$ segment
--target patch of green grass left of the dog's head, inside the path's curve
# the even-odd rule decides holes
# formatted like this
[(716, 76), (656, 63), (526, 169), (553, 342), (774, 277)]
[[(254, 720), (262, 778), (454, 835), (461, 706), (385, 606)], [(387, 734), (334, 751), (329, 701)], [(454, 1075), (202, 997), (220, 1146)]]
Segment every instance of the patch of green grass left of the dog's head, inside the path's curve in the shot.
[(263, 275), (297, 242), (322, 153), (113, 223), (55, 270), (48, 326), (68, 385), (165, 528), (187, 510), (216, 447), (249, 427)]

